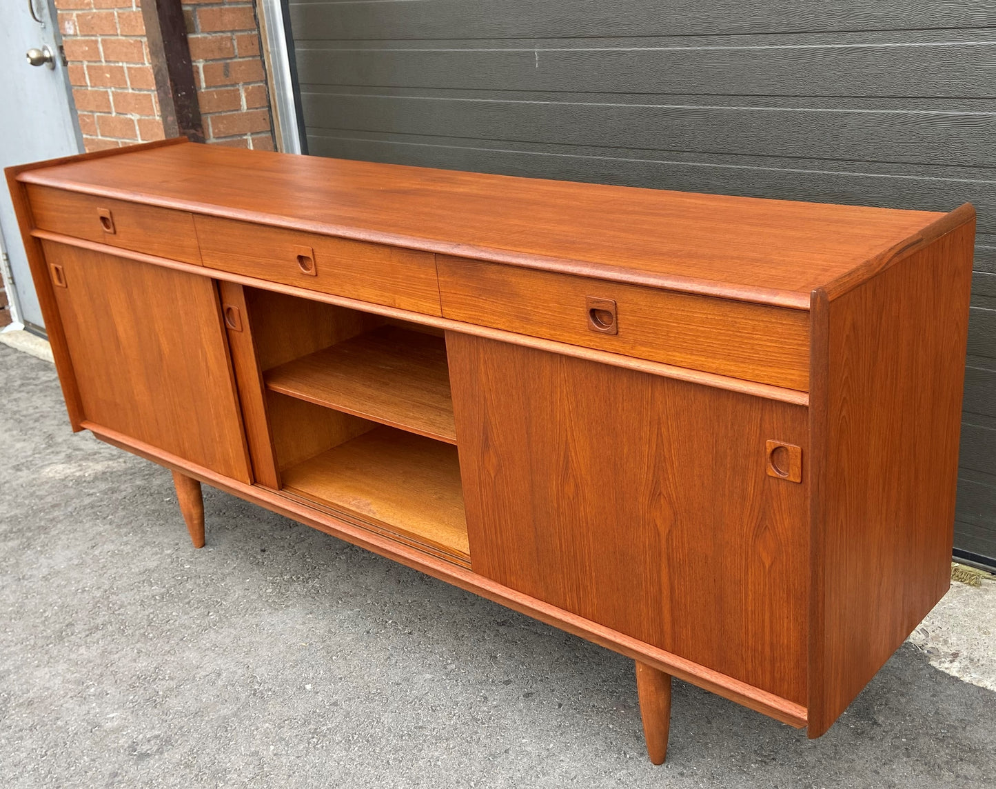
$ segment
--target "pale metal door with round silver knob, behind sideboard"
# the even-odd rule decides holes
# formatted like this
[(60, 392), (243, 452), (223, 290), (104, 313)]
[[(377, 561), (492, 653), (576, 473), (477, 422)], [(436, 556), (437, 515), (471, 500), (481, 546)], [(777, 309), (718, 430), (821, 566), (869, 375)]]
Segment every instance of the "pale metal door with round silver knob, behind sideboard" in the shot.
[[(0, 2), (0, 167), (67, 156), (83, 149), (55, 19), (49, 0)], [(32, 66), (29, 50), (38, 51), (33, 53), (36, 61), (47, 54), (51, 61)], [(0, 188), (0, 249), (5, 254), (4, 285), (12, 318), (43, 328), (6, 185)]]

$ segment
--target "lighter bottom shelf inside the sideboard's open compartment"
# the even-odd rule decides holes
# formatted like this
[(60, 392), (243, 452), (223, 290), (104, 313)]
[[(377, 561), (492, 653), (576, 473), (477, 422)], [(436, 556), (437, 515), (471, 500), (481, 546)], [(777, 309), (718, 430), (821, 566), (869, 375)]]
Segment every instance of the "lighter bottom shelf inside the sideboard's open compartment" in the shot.
[(456, 447), (375, 427), (282, 472), (283, 491), (470, 566)]

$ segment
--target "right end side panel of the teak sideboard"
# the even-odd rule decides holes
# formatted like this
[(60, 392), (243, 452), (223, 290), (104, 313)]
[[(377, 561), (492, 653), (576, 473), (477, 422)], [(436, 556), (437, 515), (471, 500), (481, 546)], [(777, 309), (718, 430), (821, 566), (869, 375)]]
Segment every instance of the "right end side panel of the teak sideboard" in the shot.
[(973, 236), (974, 220), (831, 300), (814, 330), (811, 737), (950, 583)]

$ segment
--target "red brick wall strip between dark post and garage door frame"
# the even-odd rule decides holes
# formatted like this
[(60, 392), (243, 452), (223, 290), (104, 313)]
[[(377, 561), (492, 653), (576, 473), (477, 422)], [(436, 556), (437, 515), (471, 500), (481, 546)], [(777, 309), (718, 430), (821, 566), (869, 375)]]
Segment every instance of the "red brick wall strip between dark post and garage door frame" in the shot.
[(245, 0), (183, 0), (183, 14), (205, 139), (273, 150), (255, 6)]

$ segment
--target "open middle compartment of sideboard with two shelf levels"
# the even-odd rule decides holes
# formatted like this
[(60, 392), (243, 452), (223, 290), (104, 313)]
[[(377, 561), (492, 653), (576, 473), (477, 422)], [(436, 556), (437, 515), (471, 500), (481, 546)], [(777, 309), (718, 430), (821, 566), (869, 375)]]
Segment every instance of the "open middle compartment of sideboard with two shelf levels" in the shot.
[(281, 491), (469, 568), (442, 332), (244, 294)]

